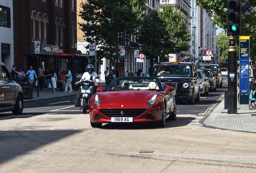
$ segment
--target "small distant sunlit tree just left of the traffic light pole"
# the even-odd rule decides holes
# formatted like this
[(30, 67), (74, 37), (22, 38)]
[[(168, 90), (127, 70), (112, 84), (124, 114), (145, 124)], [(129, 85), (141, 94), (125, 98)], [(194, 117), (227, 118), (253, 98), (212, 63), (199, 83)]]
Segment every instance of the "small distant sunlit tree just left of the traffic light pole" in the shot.
[(227, 60), (227, 52), (229, 50), (229, 37), (224, 31), (216, 36), (216, 43), (220, 49), (220, 60)]

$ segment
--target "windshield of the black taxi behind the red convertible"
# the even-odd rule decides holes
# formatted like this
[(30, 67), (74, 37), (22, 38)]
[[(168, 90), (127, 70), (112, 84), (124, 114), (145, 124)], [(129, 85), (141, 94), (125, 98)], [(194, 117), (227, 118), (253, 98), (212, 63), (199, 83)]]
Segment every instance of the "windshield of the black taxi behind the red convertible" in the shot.
[(191, 65), (171, 64), (159, 66), (157, 76), (191, 77)]

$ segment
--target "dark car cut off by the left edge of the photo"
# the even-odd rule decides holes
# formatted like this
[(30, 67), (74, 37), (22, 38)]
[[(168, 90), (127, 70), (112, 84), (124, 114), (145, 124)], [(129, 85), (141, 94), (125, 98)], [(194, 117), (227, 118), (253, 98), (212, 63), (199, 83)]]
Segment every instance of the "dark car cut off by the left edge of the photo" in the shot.
[(0, 62), (0, 113), (12, 111), (14, 115), (23, 111), (23, 91), (14, 82), (16, 76), (10, 75), (4, 63)]

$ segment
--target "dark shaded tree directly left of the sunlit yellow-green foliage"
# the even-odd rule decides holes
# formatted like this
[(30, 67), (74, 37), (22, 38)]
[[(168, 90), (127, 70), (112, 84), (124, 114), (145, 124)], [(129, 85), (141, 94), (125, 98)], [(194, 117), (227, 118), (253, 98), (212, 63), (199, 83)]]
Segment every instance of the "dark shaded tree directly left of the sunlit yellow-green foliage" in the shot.
[(154, 63), (157, 63), (158, 56), (160, 62), (165, 61), (168, 52), (174, 50), (165, 27), (159, 18), (158, 10), (154, 9), (149, 10), (148, 15), (144, 15), (143, 23), (139, 28), (140, 52), (145, 54), (147, 59), (154, 60)]

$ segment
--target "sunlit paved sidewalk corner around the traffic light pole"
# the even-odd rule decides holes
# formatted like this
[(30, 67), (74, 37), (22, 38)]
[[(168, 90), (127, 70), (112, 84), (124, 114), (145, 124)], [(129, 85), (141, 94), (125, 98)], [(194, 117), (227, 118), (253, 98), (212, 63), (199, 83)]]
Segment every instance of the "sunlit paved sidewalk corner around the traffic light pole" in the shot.
[(256, 108), (251, 106), (249, 110), (239, 110), (237, 103), (237, 114), (231, 115), (227, 114), (227, 109), (224, 109), (224, 103), (225, 100), (204, 120), (205, 125), (219, 129), (256, 133)]

